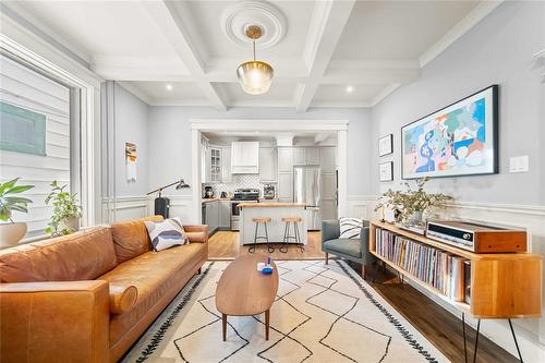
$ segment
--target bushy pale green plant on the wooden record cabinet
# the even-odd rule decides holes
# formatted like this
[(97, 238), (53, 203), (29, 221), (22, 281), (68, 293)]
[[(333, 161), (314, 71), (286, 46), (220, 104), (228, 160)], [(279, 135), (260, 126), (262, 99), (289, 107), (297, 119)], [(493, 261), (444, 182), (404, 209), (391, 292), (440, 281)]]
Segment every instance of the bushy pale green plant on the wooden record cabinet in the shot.
[(446, 203), (453, 201), (453, 197), (443, 193), (426, 193), (425, 184), (429, 178), (416, 180), (416, 189), (405, 182), (407, 191), (388, 190), (379, 197), (379, 202), (375, 207), (375, 211), (380, 208), (390, 207), (398, 210), (401, 221), (407, 222), (414, 215), (422, 215), (424, 211), (429, 211), (434, 208), (441, 208)]

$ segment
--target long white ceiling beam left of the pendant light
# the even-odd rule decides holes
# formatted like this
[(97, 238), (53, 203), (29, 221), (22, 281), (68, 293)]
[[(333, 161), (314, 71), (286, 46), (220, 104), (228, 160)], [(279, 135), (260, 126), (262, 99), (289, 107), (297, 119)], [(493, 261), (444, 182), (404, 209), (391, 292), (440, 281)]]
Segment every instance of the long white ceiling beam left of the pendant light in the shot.
[[(143, 4), (165, 34), (190, 74), (196, 77), (204, 77), (206, 75), (204, 62), (201, 59), (197, 48), (191, 41), (189, 32), (183, 26), (174, 4), (167, 1), (144, 1)], [(197, 84), (215, 108), (222, 111), (227, 110), (226, 104), (210, 82), (199, 80)]]

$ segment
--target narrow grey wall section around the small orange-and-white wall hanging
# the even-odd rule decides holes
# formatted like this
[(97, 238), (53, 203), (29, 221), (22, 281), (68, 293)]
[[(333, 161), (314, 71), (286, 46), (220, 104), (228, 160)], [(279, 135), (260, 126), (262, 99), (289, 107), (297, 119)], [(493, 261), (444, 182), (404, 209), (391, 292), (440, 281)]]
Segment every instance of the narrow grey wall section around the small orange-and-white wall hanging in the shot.
[[(149, 191), (148, 106), (116, 83), (116, 196)], [(136, 182), (126, 181), (125, 143), (136, 144)]]

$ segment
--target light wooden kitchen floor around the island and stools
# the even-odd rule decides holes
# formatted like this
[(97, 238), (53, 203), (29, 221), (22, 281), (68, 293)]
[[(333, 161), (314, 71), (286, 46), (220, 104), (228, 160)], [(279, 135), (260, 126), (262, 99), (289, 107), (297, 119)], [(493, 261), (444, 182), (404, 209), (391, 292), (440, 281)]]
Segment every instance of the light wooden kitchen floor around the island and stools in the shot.
[[(278, 247), (279, 244), (272, 244)], [(219, 231), (210, 237), (208, 241), (208, 259), (234, 259), (238, 256), (247, 255), (250, 245), (241, 246), (239, 243), (239, 232)], [(319, 232), (308, 232), (308, 243), (304, 252), (299, 247), (289, 245), (287, 253), (281, 253), (278, 249), (270, 253), (266, 244), (258, 244), (255, 253), (270, 255), (272, 259), (322, 259), (325, 257), (322, 252)]]

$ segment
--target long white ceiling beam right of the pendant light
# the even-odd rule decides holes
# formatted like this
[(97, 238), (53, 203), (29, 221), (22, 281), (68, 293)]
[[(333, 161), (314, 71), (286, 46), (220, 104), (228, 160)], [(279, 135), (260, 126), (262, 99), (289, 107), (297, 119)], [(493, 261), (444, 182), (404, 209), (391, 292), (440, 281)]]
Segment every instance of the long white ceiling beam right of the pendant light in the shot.
[(355, 0), (316, 2), (303, 50), (310, 81), (298, 86), (295, 93), (298, 111), (304, 112), (308, 109), (318, 89), (318, 80), (326, 72), (354, 3)]

